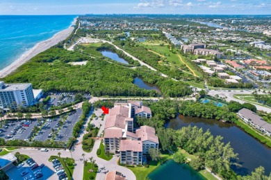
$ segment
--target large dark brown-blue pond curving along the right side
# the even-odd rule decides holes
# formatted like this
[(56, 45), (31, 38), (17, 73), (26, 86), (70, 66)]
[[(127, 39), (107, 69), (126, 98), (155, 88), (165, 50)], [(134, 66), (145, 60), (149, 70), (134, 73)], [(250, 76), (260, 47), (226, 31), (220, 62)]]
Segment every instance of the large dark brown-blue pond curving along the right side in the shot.
[(249, 174), (260, 165), (265, 168), (265, 174), (271, 172), (271, 150), (269, 147), (263, 145), (249, 134), (243, 132), (236, 125), (231, 123), (223, 123), (218, 120), (178, 116), (170, 120), (165, 127), (172, 129), (181, 129), (188, 125), (202, 127), (204, 131), (210, 130), (213, 136), (222, 136), (224, 143), (231, 142), (234, 152), (238, 153), (238, 163), (242, 167), (232, 167), (232, 169), (240, 175)]

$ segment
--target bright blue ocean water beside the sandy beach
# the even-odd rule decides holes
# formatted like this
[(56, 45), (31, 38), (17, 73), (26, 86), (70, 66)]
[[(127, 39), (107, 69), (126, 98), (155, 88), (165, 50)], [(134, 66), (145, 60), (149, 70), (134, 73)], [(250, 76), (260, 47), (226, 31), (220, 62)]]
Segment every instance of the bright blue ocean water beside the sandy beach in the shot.
[(38, 42), (65, 28), (75, 15), (0, 16), (0, 69), (12, 64)]

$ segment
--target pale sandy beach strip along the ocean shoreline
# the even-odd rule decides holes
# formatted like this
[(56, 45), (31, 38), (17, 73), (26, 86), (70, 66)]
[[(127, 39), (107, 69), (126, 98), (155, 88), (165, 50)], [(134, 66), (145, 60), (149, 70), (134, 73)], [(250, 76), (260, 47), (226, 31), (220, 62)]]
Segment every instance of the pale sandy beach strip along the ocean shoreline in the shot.
[[(75, 24), (76, 24), (76, 18), (72, 22), (72, 25), (75, 25)], [(74, 27), (69, 26), (69, 28), (56, 33), (54, 37), (51, 37), (50, 39), (47, 39), (43, 42), (36, 44), (33, 48), (26, 51), (21, 57), (15, 60), (13, 64), (10, 64), (6, 68), (2, 69), (0, 71), (0, 78), (4, 78), (6, 75), (12, 73), (19, 66), (22, 66), (22, 64), (28, 62), (28, 60), (30, 60), (32, 57), (34, 57), (35, 55), (38, 55), (38, 53), (41, 53), (47, 50), (48, 48), (51, 48), (51, 46), (58, 44), (58, 42), (65, 40), (72, 33), (72, 30), (74, 30)]]

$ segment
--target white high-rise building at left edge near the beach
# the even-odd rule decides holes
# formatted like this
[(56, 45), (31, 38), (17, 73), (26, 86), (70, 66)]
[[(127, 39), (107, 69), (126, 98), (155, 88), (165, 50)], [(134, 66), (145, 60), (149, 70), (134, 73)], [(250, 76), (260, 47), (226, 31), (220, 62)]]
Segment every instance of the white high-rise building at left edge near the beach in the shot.
[(0, 81), (0, 108), (16, 108), (18, 105), (24, 107), (33, 105), (35, 98), (30, 83), (5, 84)]

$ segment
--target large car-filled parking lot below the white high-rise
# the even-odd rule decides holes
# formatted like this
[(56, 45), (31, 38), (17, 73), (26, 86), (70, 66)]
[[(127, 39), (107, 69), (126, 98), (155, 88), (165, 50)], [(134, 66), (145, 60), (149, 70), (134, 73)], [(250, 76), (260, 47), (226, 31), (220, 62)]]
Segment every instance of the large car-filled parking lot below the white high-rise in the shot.
[[(67, 114), (67, 120), (64, 123), (61, 123), (63, 122), (61, 116), (42, 120), (6, 121), (6, 124), (0, 129), (0, 136), (1, 138), (5, 138), (6, 141), (15, 139), (46, 141), (47, 139), (54, 138), (55, 141), (65, 142), (72, 137), (72, 129), (81, 114), (81, 109)], [(37, 134), (34, 134), (34, 127), (38, 129)]]

